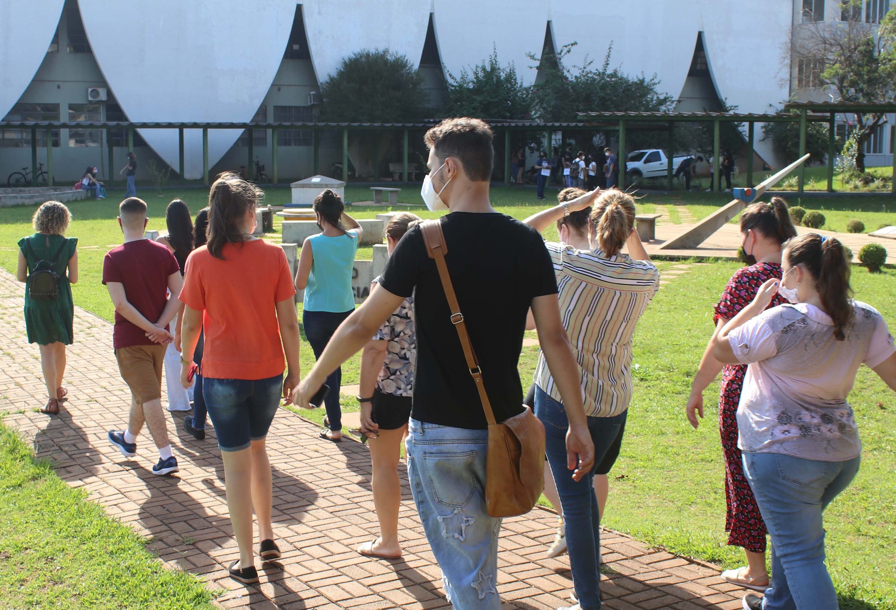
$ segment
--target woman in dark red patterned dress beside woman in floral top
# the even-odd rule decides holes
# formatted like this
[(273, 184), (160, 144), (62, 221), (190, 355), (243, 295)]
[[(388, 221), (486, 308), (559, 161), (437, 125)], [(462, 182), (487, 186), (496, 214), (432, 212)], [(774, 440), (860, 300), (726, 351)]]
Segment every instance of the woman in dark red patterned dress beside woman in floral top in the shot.
[[(703, 391), (721, 372), (719, 433), (725, 460), (725, 497), (728, 504), (725, 530), (729, 534), (728, 545), (743, 546), (747, 560), (745, 567), (726, 570), (721, 576), (740, 587), (764, 590), (769, 584), (765, 567), (766, 528), (753, 491), (746, 481), (740, 449), (737, 448), (736, 412), (746, 365), (719, 362), (712, 355), (712, 343), (722, 326), (753, 301), (762, 283), (780, 279), (781, 246), (797, 236), (797, 229), (790, 221), (787, 202), (773, 197), (770, 203), (754, 203), (744, 210), (740, 216), (740, 233), (750, 264), (731, 276), (716, 305), (713, 317), (716, 329), (694, 375), (686, 412), (688, 421), (697, 428), (697, 413), (703, 417)], [(775, 307), (784, 302), (780, 294), (775, 294), (769, 305)]]

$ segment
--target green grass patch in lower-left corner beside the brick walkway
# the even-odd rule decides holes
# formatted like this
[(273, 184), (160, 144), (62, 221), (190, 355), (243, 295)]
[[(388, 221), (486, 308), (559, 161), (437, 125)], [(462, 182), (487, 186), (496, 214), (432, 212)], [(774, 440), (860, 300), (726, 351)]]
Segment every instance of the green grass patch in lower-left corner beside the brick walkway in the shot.
[(0, 607), (211, 610), (194, 576), (163, 567), (147, 540), (37, 462), (0, 424)]

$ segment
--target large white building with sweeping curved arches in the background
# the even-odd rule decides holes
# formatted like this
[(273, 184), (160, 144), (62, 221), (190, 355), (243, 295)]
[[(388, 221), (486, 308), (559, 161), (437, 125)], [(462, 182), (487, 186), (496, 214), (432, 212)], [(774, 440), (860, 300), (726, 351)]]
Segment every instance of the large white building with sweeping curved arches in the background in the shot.
[[(806, 0), (809, 1), (809, 0)], [(814, 0), (835, 4), (837, 0)], [(881, 3), (887, 0), (866, 0)], [(566, 58), (601, 61), (625, 72), (656, 73), (677, 109), (765, 113), (791, 94), (796, 72), (781, 48), (798, 27), (804, 0), (30, 0), (0, 3), (0, 117), (7, 121), (280, 122), (314, 121), (319, 83), (355, 51), (386, 48), (407, 55), (437, 102), (446, 72), (457, 74), (496, 50), (528, 83), (538, 69), (527, 56), (546, 44), (576, 42)], [(831, 15), (833, 9), (829, 10)], [(89, 93), (92, 91), (92, 93)], [(582, 110), (600, 110), (583, 108)], [(572, 117), (571, 117), (572, 118)], [(891, 123), (892, 124), (892, 123)], [(778, 164), (771, 143), (757, 153)], [(30, 165), (30, 131), (4, 130), (0, 181)], [(882, 146), (890, 146), (884, 133)], [(45, 135), (38, 134), (39, 145)], [(87, 165), (102, 176), (125, 165), (123, 131), (58, 130), (57, 182)], [(246, 165), (246, 136), (210, 130), (211, 174)], [(177, 130), (140, 130), (140, 161), (178, 167)], [(108, 167), (108, 147), (116, 167)], [(340, 160), (341, 142), (324, 137), (320, 170)], [(271, 130), (254, 130), (254, 155), (271, 163)], [(310, 131), (278, 134), (280, 179), (312, 174)], [(39, 161), (46, 151), (39, 149)], [(887, 156), (869, 157), (887, 165)], [(892, 157), (889, 157), (892, 159)], [(890, 161), (889, 163), (892, 163)], [(202, 174), (198, 130), (185, 132), (185, 177)]]

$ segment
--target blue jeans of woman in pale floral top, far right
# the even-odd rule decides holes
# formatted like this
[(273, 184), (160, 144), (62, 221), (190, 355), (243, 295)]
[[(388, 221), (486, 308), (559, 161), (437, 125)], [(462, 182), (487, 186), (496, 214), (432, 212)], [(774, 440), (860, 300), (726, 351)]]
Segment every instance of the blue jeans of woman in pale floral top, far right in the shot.
[(824, 565), (822, 513), (858, 472), (847, 462), (806, 460), (784, 453), (744, 452), (744, 473), (771, 535), (768, 610), (837, 610)]

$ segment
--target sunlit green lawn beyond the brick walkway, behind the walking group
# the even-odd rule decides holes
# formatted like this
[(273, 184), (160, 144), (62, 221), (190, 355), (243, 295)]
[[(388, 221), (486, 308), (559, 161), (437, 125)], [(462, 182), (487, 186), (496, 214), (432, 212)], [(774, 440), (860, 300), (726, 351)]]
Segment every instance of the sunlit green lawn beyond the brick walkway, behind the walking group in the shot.
[[(168, 200), (174, 197), (185, 199), (195, 212), (204, 205), (206, 192), (185, 188), (155, 197), (154, 194), (148, 196), (148, 191), (143, 190), (142, 195), (150, 204), (150, 228), (164, 228), (162, 216)], [(78, 305), (107, 319), (111, 319), (112, 307), (107, 292), (99, 283), (101, 258), (109, 247), (121, 241), (114, 219), (116, 201), (122, 194), (123, 191), (110, 190), (107, 200), (76, 203), (71, 207), (75, 220), (69, 235), (81, 238), (82, 246), (79, 255), (82, 281), (74, 287), (74, 299)], [(556, 190), (548, 197), (555, 194)], [(276, 205), (289, 197), (289, 190), (271, 189), (267, 196), (268, 201)], [(369, 190), (352, 185), (347, 188), (346, 196), (355, 201), (368, 199)], [(399, 199), (418, 203), (416, 188), (401, 191)], [(534, 189), (498, 187), (493, 189), (493, 200), (501, 211), (518, 218), (529, 216), (544, 205), (536, 200)], [(696, 211), (718, 208), (727, 200), (724, 194), (676, 193), (665, 197), (647, 196), (639, 205), (645, 211), (658, 206), (685, 205), (697, 216)], [(887, 198), (804, 199), (803, 205), (813, 209), (815, 202), (834, 208), (840, 206), (843, 210), (838, 211), (844, 215), (856, 214), (866, 225), (874, 225), (873, 221), (869, 222), (873, 215), (886, 216), (893, 210), (892, 199)], [(880, 211), (882, 206), (885, 209)], [(373, 217), (385, 209), (353, 206), (349, 213), (364, 218)], [(0, 210), (0, 266), (14, 269), (14, 244), (30, 233), (33, 210), (34, 207)], [(414, 211), (420, 216), (438, 216), (426, 212), (425, 208), (415, 208)], [(827, 211), (825, 216), (828, 216)], [(275, 226), (275, 232), (279, 232), (279, 226)], [(547, 236), (556, 237), (556, 233), (549, 232)], [(279, 240), (276, 233), (269, 237)], [(359, 257), (369, 256), (370, 249), (359, 253)], [(668, 268), (676, 263), (661, 262), (659, 265)], [(739, 549), (725, 545), (727, 536), (723, 532), (725, 497), (715, 421), (717, 413), (713, 406), (718, 385), (712, 385), (705, 394), (709, 409), (699, 430), (694, 431), (687, 423), (684, 409), (690, 380), (711, 335), (712, 305), (736, 269), (736, 263), (692, 267), (686, 275), (663, 287), (638, 326), (632, 416), (622, 456), (612, 473), (606, 515), (610, 528), (625, 531), (653, 545), (665, 546), (676, 554), (711, 560), (726, 567), (741, 565), (744, 557)], [(884, 318), (896, 325), (894, 280), (896, 271), (893, 269), (871, 275), (865, 269), (855, 267), (853, 275), (857, 298), (880, 309)], [(537, 348), (523, 349), (520, 360), (523, 384), (530, 382), (537, 356)], [(307, 370), (313, 360), (311, 350), (303, 344), (303, 370)], [(358, 355), (344, 365), (343, 383), (358, 383)], [(896, 523), (893, 519), (896, 514), (896, 445), (892, 442), (896, 407), (893, 406), (892, 392), (864, 368), (859, 371), (850, 402), (861, 429), (864, 462), (852, 487), (831, 504), (827, 513), (829, 564), (840, 591), (840, 607), (896, 610)], [(343, 396), (343, 406), (345, 411), (358, 409), (353, 397)], [(314, 421), (323, 418), (323, 410), (301, 411), (301, 414)], [(41, 513), (35, 519), (42, 523), (40, 527), (54, 527), (50, 521), (52, 514)], [(0, 526), (3, 525), (0, 522)], [(0, 542), (0, 550), (3, 544)], [(4, 569), (4, 562), (0, 561), (0, 573), (4, 573)]]

